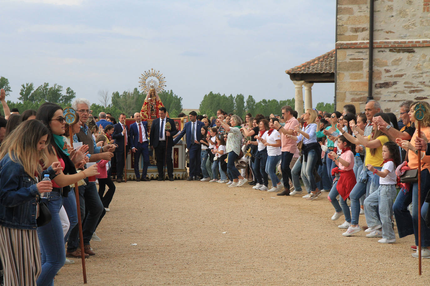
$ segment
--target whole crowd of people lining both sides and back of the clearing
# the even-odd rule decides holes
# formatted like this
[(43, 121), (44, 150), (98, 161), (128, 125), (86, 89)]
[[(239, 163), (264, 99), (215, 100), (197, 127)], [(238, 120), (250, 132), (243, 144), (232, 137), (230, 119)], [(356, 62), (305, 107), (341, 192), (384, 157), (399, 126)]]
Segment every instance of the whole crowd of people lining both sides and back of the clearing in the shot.
[[(417, 134), (413, 109), (417, 104), (403, 102), (399, 121), (395, 114), (381, 112), (374, 100), (359, 114), (354, 105), (345, 105), (343, 113), (307, 109), (300, 117), (284, 106), (279, 115), (248, 113), (245, 120), (222, 109), (213, 118), (191, 111), (182, 128), (160, 107), (149, 130), (139, 112), (130, 126), (125, 123), (126, 114), (120, 114), (118, 123), (104, 112), (95, 117), (89, 100), (83, 98), (72, 103), (77, 120), (71, 126), (55, 103), (46, 102), (37, 111), (22, 114), (3, 104), (7, 118), (0, 117), (0, 283), (53, 285), (60, 268), (74, 263), (69, 258), (95, 255), (90, 241), (101, 241), (96, 229), (110, 211), (114, 182), (125, 181), (126, 155), (135, 155), (136, 181), (150, 181), (147, 168), (154, 150), (158, 180), (173, 181), (172, 147), (184, 135), (188, 181), (228, 187), (247, 184), (278, 196), (303, 195), (306, 200), (327, 192), (335, 209), (331, 220), (344, 217), (338, 226), (345, 229), (342, 235), (361, 231), (359, 216), (365, 214), (366, 237), (393, 243), (395, 221), (399, 237), (415, 235), (414, 257), (418, 257), (421, 215), (427, 223), (421, 224), (421, 255), (430, 258), (430, 105), (421, 103), (426, 111)], [(418, 169), (418, 160), (421, 194), (416, 181), (399, 184), (398, 180)], [(50, 220), (44, 220), (45, 208)]]

